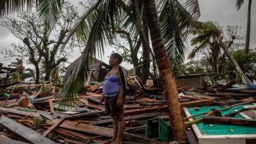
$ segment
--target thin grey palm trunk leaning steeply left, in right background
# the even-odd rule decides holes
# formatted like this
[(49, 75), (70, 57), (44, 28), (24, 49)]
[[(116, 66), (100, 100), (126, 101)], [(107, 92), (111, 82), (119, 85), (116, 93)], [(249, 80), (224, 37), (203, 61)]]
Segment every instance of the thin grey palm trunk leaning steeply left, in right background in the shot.
[(227, 55), (228, 59), (233, 63), (233, 65), (236, 67), (236, 71), (238, 72), (238, 74), (242, 77), (243, 83), (245, 84), (250, 84), (252, 83), (250, 81), (250, 79), (248, 79), (248, 77), (246, 77), (244, 75), (243, 70), (240, 68), (240, 66), (238, 65), (237, 61), (234, 59), (234, 57), (232, 56), (231, 52), (228, 50), (227, 45), (222, 41), (221, 36), (218, 36), (219, 42), (221, 47), (223, 48), (223, 50), (225, 51), (225, 54)]

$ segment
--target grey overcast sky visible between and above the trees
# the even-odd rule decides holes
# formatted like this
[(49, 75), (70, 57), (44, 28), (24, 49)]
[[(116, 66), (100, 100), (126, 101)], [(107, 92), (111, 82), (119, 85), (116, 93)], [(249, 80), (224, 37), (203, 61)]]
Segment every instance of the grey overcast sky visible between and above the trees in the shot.
[[(77, 5), (77, 3), (81, 0), (72, 0), (72, 4)], [(242, 26), (241, 35), (245, 36), (246, 34), (246, 18), (247, 18), (247, 8), (248, 8), (248, 0), (245, 1), (243, 6), (239, 11), (236, 10), (236, 0), (198, 0), (200, 6), (200, 21), (216, 21), (220, 26), (224, 28), (228, 25), (234, 26)], [(191, 36), (189, 36), (190, 38)], [(13, 36), (6, 28), (0, 27), (0, 51), (3, 50), (4, 47), (10, 47), (12, 42), (19, 42), (15, 36)], [(189, 42), (189, 39), (188, 39)], [(188, 44), (189, 45), (189, 44)], [(252, 1), (252, 21), (251, 21), (251, 39), (250, 39), (250, 47), (256, 47), (256, 1)], [(191, 51), (193, 47), (189, 45), (189, 51)], [(108, 56), (114, 51), (111, 47), (108, 47), (104, 53), (104, 57), (102, 61), (108, 63)], [(68, 58), (69, 62), (76, 60), (81, 55), (81, 51), (79, 49), (74, 49), (74, 52), (70, 58)], [(4, 63), (4, 65), (10, 64), (13, 59), (4, 58), (3, 54), (0, 56), (0, 63)], [(131, 65), (127, 65), (123, 63), (127, 69), (132, 68)]]

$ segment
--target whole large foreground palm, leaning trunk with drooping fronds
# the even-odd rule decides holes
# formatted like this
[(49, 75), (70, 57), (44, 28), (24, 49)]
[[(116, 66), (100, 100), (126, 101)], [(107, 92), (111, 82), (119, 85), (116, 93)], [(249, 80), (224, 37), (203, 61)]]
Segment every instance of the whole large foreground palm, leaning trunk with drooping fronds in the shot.
[[(40, 4), (42, 9), (38, 9), (40, 18), (45, 21), (56, 21), (56, 17), (60, 13), (60, 8), (58, 7), (61, 7), (61, 0), (43, 2), (45, 3)], [(138, 0), (134, 0), (132, 2), (136, 4), (136, 9), (140, 6), (140, 10), (134, 12), (139, 18), (136, 22), (140, 25), (140, 29), (143, 29), (143, 27), (141, 24), (142, 19), (138, 12), (141, 12), (141, 9), (145, 6), (152, 48), (161, 79), (163, 80), (165, 96), (168, 100), (172, 136), (177, 141), (185, 141), (184, 122), (170, 60), (174, 63), (173, 61), (177, 60), (175, 56), (179, 55), (179, 52), (184, 52), (184, 36), (191, 28), (191, 21), (198, 18), (198, 3), (196, 0), (188, 0), (184, 4), (180, 4), (177, 0), (165, 0), (159, 1), (160, 6), (158, 7), (154, 0), (140, 1), (140, 3)], [(70, 76), (61, 90), (60, 95), (58, 95), (58, 98), (68, 98), (62, 99), (62, 104), (72, 104), (76, 100), (77, 92), (83, 86), (84, 76), (88, 72), (88, 62), (92, 60), (92, 56), (95, 56), (96, 52), (101, 53), (104, 50), (106, 40), (111, 41), (113, 39), (113, 34), (115, 33), (113, 33), (112, 29), (116, 27), (116, 20), (120, 19), (123, 4), (124, 1), (120, 0), (97, 1), (88, 11), (81, 15), (77, 24), (70, 31), (67, 40), (72, 36), (76, 36), (79, 42), (86, 44), (86, 47), (81, 56), (83, 60), (77, 65), (72, 76)], [(52, 11), (52, 6), (57, 6), (57, 8)], [(163, 16), (160, 17), (163, 20), (161, 25), (157, 15), (157, 8), (159, 8), (159, 12), (164, 12)], [(1, 9), (3, 11), (7, 8), (4, 9), (4, 6), (1, 6)], [(170, 24), (171, 28), (168, 28)], [(167, 30), (163, 31), (163, 29)], [(161, 30), (163, 31), (163, 37)], [(145, 35), (143, 35), (143, 39), (146, 39)], [(172, 54), (172, 57), (169, 58), (168, 54)]]

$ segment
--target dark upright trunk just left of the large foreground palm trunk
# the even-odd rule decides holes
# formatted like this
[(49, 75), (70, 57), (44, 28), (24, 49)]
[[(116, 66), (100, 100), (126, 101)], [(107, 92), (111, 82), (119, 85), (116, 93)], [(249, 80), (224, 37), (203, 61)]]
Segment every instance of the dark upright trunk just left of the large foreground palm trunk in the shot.
[[(146, 19), (146, 14), (145, 14), (145, 7), (143, 10), (143, 28), (145, 30), (147, 39), (148, 39), (148, 22)], [(147, 44), (145, 44), (145, 41), (142, 42), (142, 58), (143, 58), (143, 66), (141, 68), (141, 78), (143, 79), (143, 81), (147, 81), (148, 76), (149, 76), (149, 68), (150, 68), (150, 51), (148, 51), (148, 49), (150, 49), (150, 47), (148, 47)]]

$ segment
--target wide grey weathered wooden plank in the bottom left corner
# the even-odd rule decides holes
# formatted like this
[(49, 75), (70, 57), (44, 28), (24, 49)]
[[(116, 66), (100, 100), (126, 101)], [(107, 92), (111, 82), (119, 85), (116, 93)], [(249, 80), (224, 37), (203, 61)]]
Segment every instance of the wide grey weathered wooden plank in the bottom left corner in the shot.
[(1, 116), (0, 124), (9, 129), (12, 132), (15, 132), (19, 136), (22, 136), (22, 138), (25, 138), (31, 143), (35, 144), (53, 144), (54, 141), (45, 138), (40, 133), (33, 131), (32, 129), (29, 129), (28, 127), (25, 127), (22, 124), (19, 124), (15, 121), (13, 121), (10, 118), (7, 118), (6, 116)]

